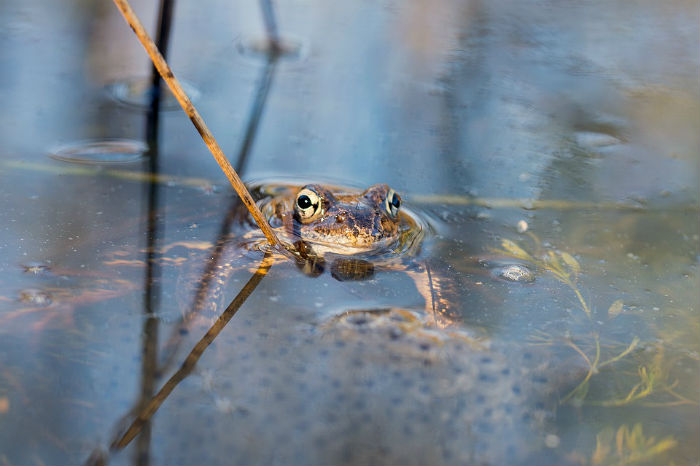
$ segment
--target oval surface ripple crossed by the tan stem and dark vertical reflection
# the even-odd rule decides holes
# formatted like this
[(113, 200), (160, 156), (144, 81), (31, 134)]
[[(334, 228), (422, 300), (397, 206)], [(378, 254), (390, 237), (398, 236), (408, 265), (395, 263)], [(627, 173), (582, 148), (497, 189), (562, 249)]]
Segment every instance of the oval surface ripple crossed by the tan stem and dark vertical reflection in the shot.
[[(121, 81), (115, 81), (106, 87), (107, 94), (120, 104), (140, 109), (147, 109), (151, 105), (152, 93), (154, 91), (152, 79), (150, 76), (128, 78)], [(200, 92), (192, 84), (187, 81), (180, 80), (182, 89), (187, 94), (192, 102), (195, 102), (200, 95)], [(180, 108), (175, 96), (170, 92), (170, 89), (165, 84), (160, 86), (161, 110), (175, 110)]]

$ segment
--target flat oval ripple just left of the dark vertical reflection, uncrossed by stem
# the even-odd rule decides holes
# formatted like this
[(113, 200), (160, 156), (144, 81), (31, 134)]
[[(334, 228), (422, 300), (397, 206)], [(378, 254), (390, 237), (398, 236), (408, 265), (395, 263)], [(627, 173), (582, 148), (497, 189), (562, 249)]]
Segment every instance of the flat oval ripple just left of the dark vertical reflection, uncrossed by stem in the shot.
[(64, 162), (102, 164), (142, 160), (148, 147), (132, 139), (86, 140), (57, 147), (49, 156)]

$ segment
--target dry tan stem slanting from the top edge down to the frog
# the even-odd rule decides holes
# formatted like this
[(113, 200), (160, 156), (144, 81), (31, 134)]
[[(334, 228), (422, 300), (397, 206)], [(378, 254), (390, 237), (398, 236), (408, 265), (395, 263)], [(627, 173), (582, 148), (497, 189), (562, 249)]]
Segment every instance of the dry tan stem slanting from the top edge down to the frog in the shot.
[(190, 118), (195, 128), (197, 128), (197, 131), (199, 131), (202, 139), (204, 139), (204, 143), (211, 151), (212, 155), (216, 159), (216, 162), (219, 164), (219, 167), (221, 167), (221, 170), (223, 170), (224, 174), (231, 182), (233, 189), (236, 190), (238, 196), (243, 201), (243, 204), (245, 204), (250, 211), (253, 219), (258, 224), (267, 240), (272, 245), (279, 246), (280, 242), (277, 239), (277, 236), (275, 236), (275, 233), (272, 231), (272, 228), (270, 228), (267, 220), (265, 220), (265, 217), (263, 217), (262, 212), (260, 212), (260, 209), (255, 204), (255, 201), (248, 192), (248, 189), (246, 189), (245, 185), (238, 177), (238, 174), (231, 166), (231, 163), (224, 155), (221, 147), (219, 147), (216, 139), (214, 139), (211, 131), (209, 131), (209, 128), (199, 115), (199, 112), (197, 112), (197, 109), (194, 108), (194, 105), (192, 105), (192, 102), (190, 101), (189, 97), (187, 97), (187, 94), (182, 89), (182, 86), (178, 82), (177, 78), (175, 78), (170, 66), (168, 66), (165, 59), (158, 51), (158, 48), (153, 43), (153, 40), (148, 36), (148, 33), (141, 24), (141, 21), (139, 21), (138, 17), (131, 9), (129, 2), (127, 0), (114, 0), (114, 4), (117, 6), (117, 8), (119, 8), (119, 11), (124, 16), (126, 22), (129, 23), (129, 26), (131, 26), (134, 33), (136, 33), (136, 36), (141, 41), (141, 45), (143, 45), (143, 47), (146, 49), (148, 56), (151, 57), (153, 64), (158, 69), (158, 73), (160, 73), (161, 77), (172, 91), (180, 106), (182, 106), (182, 109)]

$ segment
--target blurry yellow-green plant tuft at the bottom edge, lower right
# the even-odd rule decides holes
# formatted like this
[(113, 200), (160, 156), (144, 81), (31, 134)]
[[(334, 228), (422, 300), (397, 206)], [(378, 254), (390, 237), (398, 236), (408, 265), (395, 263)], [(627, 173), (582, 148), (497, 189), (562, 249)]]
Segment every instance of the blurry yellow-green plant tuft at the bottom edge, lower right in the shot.
[(594, 465), (643, 464), (671, 450), (677, 444), (671, 436), (660, 440), (645, 436), (639, 423), (631, 429), (624, 424), (617, 431), (606, 428), (596, 435), (596, 448), (590, 462)]

